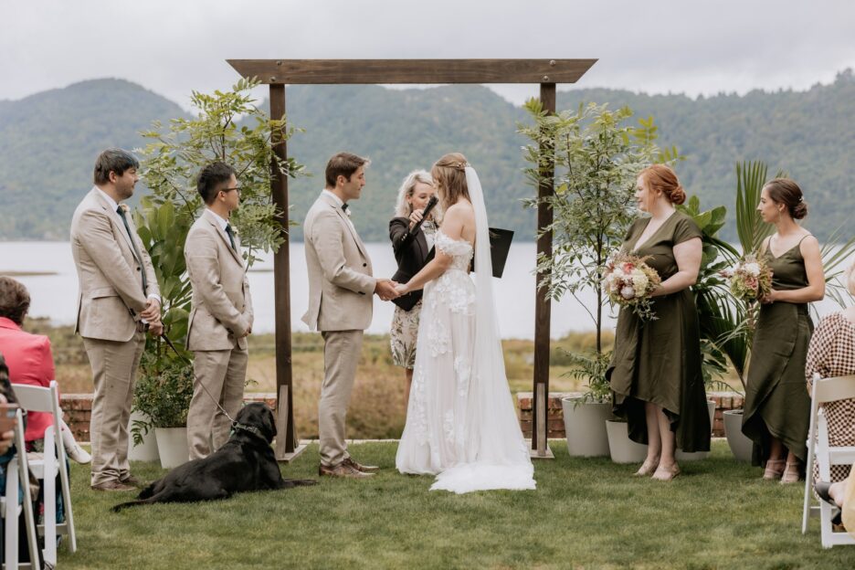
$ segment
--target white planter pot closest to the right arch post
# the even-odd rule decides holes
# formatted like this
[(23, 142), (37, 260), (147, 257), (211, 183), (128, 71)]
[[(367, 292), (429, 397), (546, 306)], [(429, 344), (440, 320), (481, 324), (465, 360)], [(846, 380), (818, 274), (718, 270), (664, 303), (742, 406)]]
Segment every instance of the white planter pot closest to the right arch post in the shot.
[(608, 457), (606, 420), (614, 418), (611, 413), (612, 406), (610, 403), (579, 403), (581, 399), (561, 399), (567, 451), (571, 457)]

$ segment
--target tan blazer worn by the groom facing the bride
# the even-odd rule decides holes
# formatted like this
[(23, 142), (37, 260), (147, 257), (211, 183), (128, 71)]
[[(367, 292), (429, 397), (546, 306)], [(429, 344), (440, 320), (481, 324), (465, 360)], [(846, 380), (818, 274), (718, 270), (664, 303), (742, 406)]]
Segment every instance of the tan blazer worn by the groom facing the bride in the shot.
[(309, 271), (309, 310), (302, 322), (311, 331), (353, 331), (371, 324), (377, 280), (371, 259), (332, 196), (315, 200), (303, 224)]

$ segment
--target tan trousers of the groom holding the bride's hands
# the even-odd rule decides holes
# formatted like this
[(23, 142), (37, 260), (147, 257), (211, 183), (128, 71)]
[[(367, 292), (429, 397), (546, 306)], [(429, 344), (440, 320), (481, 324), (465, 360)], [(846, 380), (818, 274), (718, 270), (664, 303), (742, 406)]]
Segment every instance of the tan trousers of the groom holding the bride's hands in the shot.
[(362, 354), (363, 331), (325, 331), (323, 385), (318, 404), (321, 464), (334, 467), (350, 457), (344, 441), (347, 406), (354, 388), (356, 364)]

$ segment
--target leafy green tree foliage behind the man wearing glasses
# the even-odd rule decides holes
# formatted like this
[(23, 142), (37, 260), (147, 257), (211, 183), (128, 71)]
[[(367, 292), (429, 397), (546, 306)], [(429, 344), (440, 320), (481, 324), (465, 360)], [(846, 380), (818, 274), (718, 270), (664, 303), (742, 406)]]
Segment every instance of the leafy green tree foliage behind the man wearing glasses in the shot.
[[(260, 251), (275, 251), (284, 241), (285, 230), (279, 220), (282, 212), (270, 193), (271, 176), (274, 170), (290, 177), (304, 173), (294, 159), (280, 160), (273, 147), (288, 141), (298, 130), (288, 126), (284, 117), (269, 118), (255, 106), (250, 91), (258, 85), (258, 81), (240, 79), (228, 91), (216, 90), (210, 95), (194, 91), (193, 118), (178, 117), (166, 128), (156, 121), (153, 130), (142, 132), (151, 141), (142, 150), (142, 178), (151, 194), (142, 198), (134, 221), (157, 274), (164, 334), (176, 348), (185, 343), (190, 309), (184, 245), (195, 216), (204, 206), (195, 181), (206, 164), (222, 161), (237, 171), (240, 207), (231, 222), (246, 248), (243, 255), (248, 266), (258, 259)], [(173, 384), (180, 380), (192, 385), (192, 375), (186, 373), (190, 366), (187, 354), (182, 348), (178, 351), (183, 354), (175, 354), (160, 339), (146, 343), (137, 396), (151, 396), (150, 384), (166, 372)], [(185, 394), (186, 390), (178, 392)], [(164, 406), (167, 400), (172, 402), (164, 396)], [(146, 402), (147, 406), (156, 406), (159, 401), (138, 398), (138, 403)], [(163, 416), (157, 409), (142, 411), (155, 418)], [(169, 415), (175, 417), (174, 411)]]

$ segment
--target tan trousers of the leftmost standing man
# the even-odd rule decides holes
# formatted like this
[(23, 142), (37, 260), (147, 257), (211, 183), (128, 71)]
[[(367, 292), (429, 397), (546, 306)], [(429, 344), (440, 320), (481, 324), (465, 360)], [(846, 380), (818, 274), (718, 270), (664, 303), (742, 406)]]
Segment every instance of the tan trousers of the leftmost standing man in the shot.
[(102, 485), (131, 475), (128, 420), (137, 366), (145, 347), (145, 333), (136, 332), (127, 343), (84, 338), (83, 346), (90, 359), (95, 385), (90, 419), (90, 483)]

